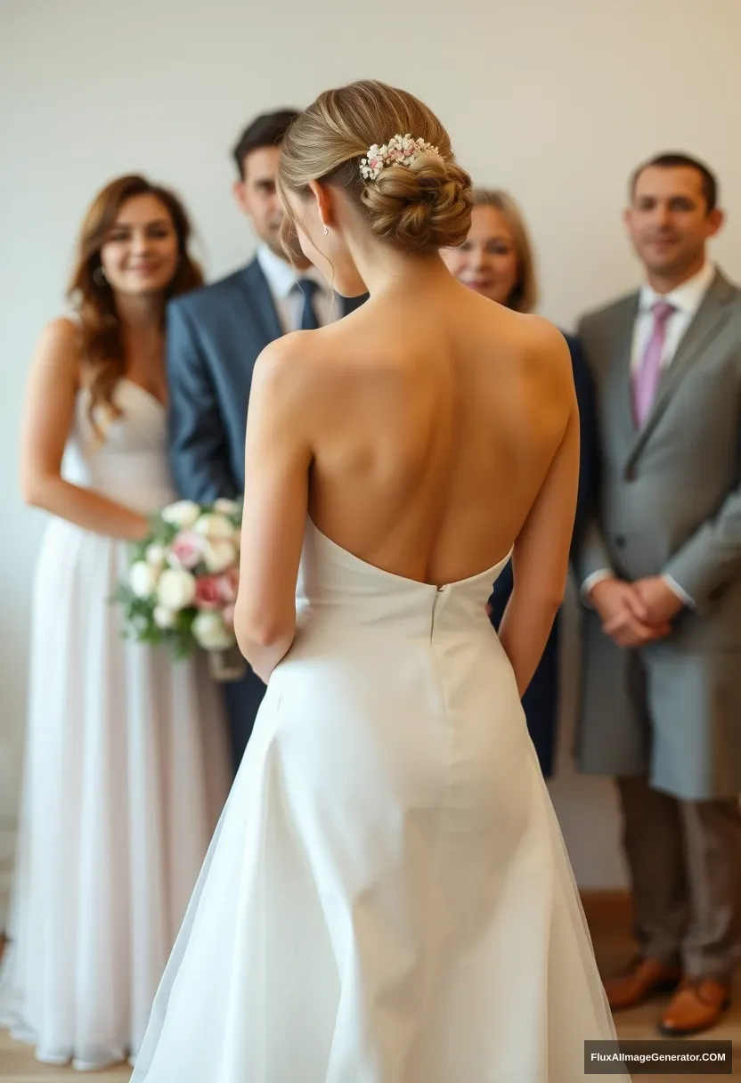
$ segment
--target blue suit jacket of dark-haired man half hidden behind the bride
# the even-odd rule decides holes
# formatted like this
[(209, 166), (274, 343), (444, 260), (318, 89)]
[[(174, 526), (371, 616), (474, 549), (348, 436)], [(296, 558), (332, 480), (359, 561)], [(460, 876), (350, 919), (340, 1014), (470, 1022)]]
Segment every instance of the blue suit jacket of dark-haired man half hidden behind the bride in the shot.
[[(342, 314), (364, 300), (340, 299)], [(257, 260), (168, 305), (169, 443), (181, 497), (242, 496), (255, 362), (283, 334)]]

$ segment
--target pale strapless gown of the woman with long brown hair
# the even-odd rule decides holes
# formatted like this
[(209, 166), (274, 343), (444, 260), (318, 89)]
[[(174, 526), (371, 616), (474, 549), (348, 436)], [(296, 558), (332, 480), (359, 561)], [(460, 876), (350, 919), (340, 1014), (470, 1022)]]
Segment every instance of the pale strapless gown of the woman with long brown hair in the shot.
[[(80, 393), (63, 473), (142, 513), (173, 499), (161, 404), (129, 380), (99, 440)], [(34, 584), (29, 712), (0, 1027), (39, 1060), (135, 1055), (229, 793), (203, 658), (121, 639), (128, 546), (49, 524)]]

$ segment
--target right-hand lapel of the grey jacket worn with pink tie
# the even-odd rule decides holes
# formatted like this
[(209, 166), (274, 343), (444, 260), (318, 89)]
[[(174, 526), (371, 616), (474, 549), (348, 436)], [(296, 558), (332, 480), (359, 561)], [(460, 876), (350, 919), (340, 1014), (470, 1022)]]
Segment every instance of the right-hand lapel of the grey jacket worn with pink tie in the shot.
[(629, 467), (639, 455), (665, 413), (672, 395), (687, 373), (704, 356), (711, 342), (725, 326), (730, 317), (729, 301), (733, 299), (733, 287), (718, 272), (694, 314), (694, 318), (682, 336), (671, 364), (662, 373), (646, 425), (639, 432), (634, 430), (635, 440), (626, 466)]

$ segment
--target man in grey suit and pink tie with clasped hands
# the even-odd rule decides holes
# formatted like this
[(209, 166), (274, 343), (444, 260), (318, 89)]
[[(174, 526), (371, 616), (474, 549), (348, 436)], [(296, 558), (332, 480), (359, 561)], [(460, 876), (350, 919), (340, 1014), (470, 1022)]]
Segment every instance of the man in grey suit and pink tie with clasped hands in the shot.
[(741, 295), (706, 258), (723, 214), (701, 162), (642, 166), (625, 218), (645, 285), (578, 328), (601, 479), (576, 752), (623, 814), (639, 954), (611, 1006), (672, 989), (660, 1029), (689, 1034), (741, 952)]

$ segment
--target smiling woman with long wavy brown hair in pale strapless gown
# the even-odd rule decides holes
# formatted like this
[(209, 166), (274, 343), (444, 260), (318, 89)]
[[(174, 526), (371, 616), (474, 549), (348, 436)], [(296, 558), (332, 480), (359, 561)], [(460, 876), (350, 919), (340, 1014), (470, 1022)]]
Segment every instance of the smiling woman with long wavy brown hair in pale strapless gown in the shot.
[(43, 331), (24, 423), (26, 499), (50, 512), (0, 1026), (39, 1060), (133, 1057), (229, 790), (198, 662), (121, 639), (128, 543), (174, 498), (164, 309), (197, 286), (180, 201), (112, 182), (83, 222), (73, 318)]

